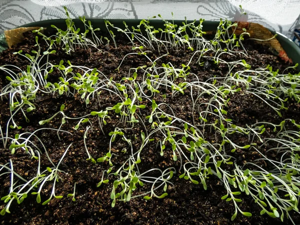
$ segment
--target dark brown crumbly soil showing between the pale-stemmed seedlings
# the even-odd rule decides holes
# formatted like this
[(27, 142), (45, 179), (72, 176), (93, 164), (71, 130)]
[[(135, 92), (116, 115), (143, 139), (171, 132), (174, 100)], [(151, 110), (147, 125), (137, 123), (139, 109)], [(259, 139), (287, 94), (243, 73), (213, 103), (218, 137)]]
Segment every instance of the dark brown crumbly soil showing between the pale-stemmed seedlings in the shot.
[[(25, 39), (22, 43), (13, 46), (0, 54), (0, 65), (13, 64), (22, 69), (26, 68), (27, 61), (13, 52), (20, 49), (23, 53), (30, 53), (35, 50), (34, 37), (31, 33), (25, 34)], [(127, 53), (132, 52), (131, 45), (124, 40), (124, 38), (117, 39), (118, 48), (115, 49), (111, 45), (100, 46), (99, 50), (90, 49), (76, 49), (70, 55), (65, 54), (59, 48), (55, 54), (49, 56), (49, 60), (53, 64), (58, 64), (62, 59), (64, 61), (70, 60), (73, 65), (82, 65), (89, 68), (97, 68), (108, 77), (113, 77), (113, 80), (118, 81), (122, 77), (127, 76), (130, 67), (137, 67), (141, 65), (150, 66), (148, 60), (143, 55), (129, 55), (123, 61), (119, 70), (115, 70), (121, 59)], [(41, 47), (45, 48), (45, 44), (41, 43)], [(280, 58), (272, 55), (266, 48), (257, 43), (245, 40), (244, 47), (248, 51), (247, 63), (252, 68), (265, 67), (267, 64), (272, 65), (273, 68), (278, 68), (282, 71), (287, 64)], [(148, 52), (147, 56), (155, 58), (158, 52)], [(168, 56), (162, 57), (157, 61), (157, 64), (162, 62), (170, 62), (174, 67), (180, 67), (182, 63), (187, 64), (192, 52), (189, 50), (173, 51)], [(242, 55), (237, 55), (236, 59), (241, 59)], [(213, 76), (223, 76), (227, 71), (226, 66), (216, 65), (212, 61), (206, 61), (203, 66), (199, 66), (195, 60), (191, 62), (190, 72), (196, 74), (197, 79), (205, 81)], [(0, 73), (0, 89), (4, 87), (8, 81), (5, 79), (3, 72)], [(140, 74), (138, 74), (140, 75)], [(49, 79), (52, 82), (58, 80), (58, 72), (51, 74)], [(187, 76), (187, 81), (196, 80), (194, 76)], [(176, 94), (171, 98), (171, 92), (161, 92), (155, 98), (156, 103), (165, 102), (175, 112), (176, 116), (192, 123), (192, 102), (188, 94)], [(51, 117), (56, 113), (61, 104), (65, 105), (64, 113), (70, 117), (80, 117), (89, 114), (90, 111), (100, 111), (105, 107), (112, 106), (117, 103), (119, 99), (110, 96), (110, 94), (102, 92), (99, 100), (91, 100), (88, 105), (80, 98), (77, 93), (74, 96), (66, 96), (65, 94), (59, 95), (57, 92), (52, 94), (38, 93), (34, 105), (35, 110), (26, 113), (30, 122), (26, 122), (21, 114), (17, 114), (18, 123), (22, 126), (20, 130), (10, 129), (9, 135), (13, 137), (17, 132), (33, 132), (34, 130), (42, 127), (57, 128), (60, 125), (61, 117), (56, 116), (49, 123), (39, 125), (38, 121)], [(142, 104), (147, 105), (149, 109), (140, 110), (141, 118), (150, 114), (151, 102), (144, 100)], [(9, 118), (9, 105), (6, 98), (0, 101), (0, 122), (1, 126), (6, 126)], [(274, 124), (280, 123), (285, 118), (295, 119), (300, 123), (300, 105), (292, 99), (288, 99), (285, 105), (288, 109), (281, 110), (282, 117), (272, 110), (270, 107), (265, 106), (259, 98), (251, 95), (242, 95), (236, 93), (230, 96), (228, 102), (227, 118), (231, 118), (234, 124), (245, 126), (250, 125), (256, 121), (268, 121)], [(167, 108), (165, 110), (168, 110)], [(114, 130), (114, 127), (128, 127), (128, 124), (119, 122), (117, 115), (110, 111), (111, 119), (107, 119), (107, 124), (103, 125), (102, 133), (98, 126), (98, 121), (95, 117), (89, 116), (93, 124), (93, 132), (88, 133), (86, 138), (86, 145), (93, 156), (93, 158), (102, 157), (109, 146), (110, 136), (108, 133)], [(198, 117), (198, 116), (197, 116)], [(195, 118), (197, 118), (195, 117)], [(196, 119), (197, 120), (197, 119)], [(150, 130), (150, 124), (145, 121), (145, 125)], [(150, 168), (165, 169), (168, 167), (175, 167), (177, 173), (174, 174), (171, 182), (173, 186), (167, 189), (168, 195), (162, 199), (152, 198), (151, 200), (144, 200), (142, 197), (131, 199), (129, 202), (116, 202), (115, 207), (111, 207), (110, 191), (113, 182), (113, 176), (110, 176), (110, 182), (102, 184), (97, 187), (102, 176), (102, 172), (109, 168), (108, 163), (97, 162), (96, 164), (86, 161), (87, 154), (84, 148), (83, 134), (85, 125), (80, 125), (78, 130), (73, 127), (77, 120), (72, 121), (68, 119), (63, 124), (62, 129), (72, 133), (59, 133), (59, 138), (56, 131), (38, 131), (36, 135), (42, 140), (45, 148), (48, 151), (49, 157), (56, 164), (61, 158), (66, 147), (72, 143), (70, 149), (67, 151), (60, 169), (66, 173), (61, 173), (62, 180), (56, 182), (56, 195), (63, 195), (61, 199), (52, 199), (46, 205), (38, 204), (35, 200), (35, 195), (28, 195), (28, 197), (21, 203), (13, 202), (10, 211), (4, 216), (0, 216), (1, 224), (288, 224), (290, 221), (285, 218), (284, 223), (279, 219), (271, 218), (266, 214), (260, 215), (261, 210), (257, 204), (253, 202), (247, 195), (242, 194), (243, 201), (239, 203), (239, 207), (243, 211), (252, 213), (251, 217), (246, 217), (237, 214), (234, 221), (230, 220), (231, 215), (234, 213), (234, 206), (232, 201), (226, 202), (221, 200), (221, 196), (226, 193), (222, 181), (216, 176), (211, 175), (207, 179), (207, 190), (204, 190), (202, 185), (193, 184), (183, 178), (178, 178), (179, 162), (173, 161), (172, 150), (166, 147), (163, 156), (160, 156), (156, 148), (156, 142), (150, 143), (146, 146), (141, 155), (142, 163), (140, 163), (141, 171), (146, 171)], [(183, 124), (177, 124), (183, 125)], [(288, 125), (288, 124), (287, 124)], [(272, 130), (267, 128), (264, 137), (272, 136)], [(144, 131), (140, 123), (136, 123), (132, 129), (127, 129), (125, 135), (132, 140), (132, 145), (135, 149), (141, 144), (140, 132)], [(214, 134), (206, 132), (206, 139), (213, 140)], [(159, 136), (154, 136), (160, 138)], [(233, 140), (237, 144), (245, 144), (247, 138), (241, 135), (234, 135)], [(36, 141), (36, 140), (34, 140)], [(255, 140), (254, 140), (255, 141)], [(258, 143), (258, 140), (256, 140)], [(121, 165), (126, 156), (129, 154), (121, 153), (122, 148), (125, 147), (124, 141), (119, 137), (113, 142), (112, 149), (114, 153), (118, 154), (113, 157), (112, 163), (114, 165)], [(260, 149), (263, 153), (266, 152), (271, 146), (265, 146)], [(268, 157), (276, 159), (278, 156), (275, 151), (268, 151), (265, 153)], [(254, 161), (261, 155), (256, 151), (248, 149), (237, 149), (232, 156), (236, 158), (236, 163), (243, 165), (246, 161)], [(14, 170), (24, 177), (30, 179), (36, 172), (37, 160), (31, 159), (30, 156), (24, 151), (17, 150), (14, 154), (10, 153), (8, 148), (0, 147), (0, 163), (5, 164), (12, 160)], [(268, 164), (261, 160), (260, 166), (268, 168)], [(41, 167), (45, 169), (50, 166), (45, 154), (41, 154)], [(229, 167), (230, 169), (230, 167)], [(73, 192), (73, 185), (76, 182), (75, 201), (72, 201), (66, 195)], [(0, 196), (8, 193), (10, 185), (9, 175), (0, 177)], [(42, 190), (42, 201), (47, 199), (47, 194), (51, 190), (51, 184), (46, 184)], [(149, 185), (144, 185), (136, 190), (141, 193)], [(0, 202), (0, 209), (4, 207), (3, 201)], [(300, 223), (300, 217), (297, 214), (294, 216), (294, 222)]]

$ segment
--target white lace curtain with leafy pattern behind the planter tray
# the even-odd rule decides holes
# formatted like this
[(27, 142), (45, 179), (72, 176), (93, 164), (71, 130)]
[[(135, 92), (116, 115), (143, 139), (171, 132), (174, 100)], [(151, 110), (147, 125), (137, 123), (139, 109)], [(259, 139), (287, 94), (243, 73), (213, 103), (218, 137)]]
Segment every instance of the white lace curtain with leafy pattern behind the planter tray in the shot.
[(71, 17), (141, 19), (160, 13), (170, 19), (236, 19), (239, 4), (248, 21), (294, 37), (300, 26), (300, 0), (0, 0), (0, 32), (46, 19)]

